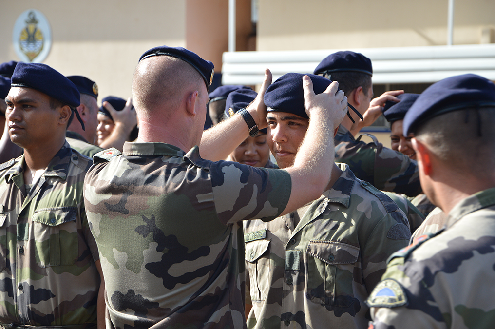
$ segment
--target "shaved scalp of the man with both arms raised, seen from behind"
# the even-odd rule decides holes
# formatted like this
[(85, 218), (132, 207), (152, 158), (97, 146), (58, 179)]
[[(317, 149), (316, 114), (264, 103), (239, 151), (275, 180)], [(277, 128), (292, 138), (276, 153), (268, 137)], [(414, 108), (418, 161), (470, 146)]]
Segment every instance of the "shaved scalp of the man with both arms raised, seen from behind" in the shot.
[(206, 92), (203, 78), (193, 66), (164, 55), (139, 62), (132, 81), (134, 106), (138, 114), (146, 116), (157, 110), (167, 115), (192, 92), (202, 93), (203, 89)]

